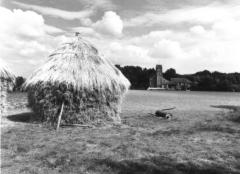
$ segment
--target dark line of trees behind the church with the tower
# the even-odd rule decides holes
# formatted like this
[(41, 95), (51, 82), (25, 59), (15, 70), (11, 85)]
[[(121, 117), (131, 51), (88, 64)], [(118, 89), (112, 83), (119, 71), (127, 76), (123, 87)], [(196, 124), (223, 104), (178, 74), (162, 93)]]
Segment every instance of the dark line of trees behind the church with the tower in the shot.
[[(147, 89), (149, 86), (149, 78), (156, 74), (153, 68), (142, 68), (139, 66), (116, 65), (116, 67), (131, 82), (131, 89)], [(192, 82), (192, 91), (236, 91), (240, 92), (240, 73), (221, 73), (210, 72), (208, 70), (200, 71), (195, 74), (181, 75), (175, 69), (170, 68), (163, 73), (163, 77), (167, 80), (171, 78), (181, 77)]]

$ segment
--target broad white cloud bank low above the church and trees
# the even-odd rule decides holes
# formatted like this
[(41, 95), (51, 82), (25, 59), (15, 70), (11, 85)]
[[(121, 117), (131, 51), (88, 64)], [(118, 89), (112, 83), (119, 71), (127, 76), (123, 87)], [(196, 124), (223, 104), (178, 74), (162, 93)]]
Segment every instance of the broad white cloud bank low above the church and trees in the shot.
[(115, 64), (174, 67), (179, 73), (240, 69), (240, 38), (237, 20), (222, 20), (205, 28), (192, 25), (187, 30), (156, 30), (141, 36), (92, 39)]

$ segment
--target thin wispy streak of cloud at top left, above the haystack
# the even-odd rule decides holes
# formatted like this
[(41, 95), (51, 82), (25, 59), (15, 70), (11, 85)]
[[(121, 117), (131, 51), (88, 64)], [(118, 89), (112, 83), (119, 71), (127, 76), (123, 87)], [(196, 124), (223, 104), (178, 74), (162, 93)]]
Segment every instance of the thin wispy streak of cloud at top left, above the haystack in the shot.
[(15, 1), (12, 3), (15, 5), (18, 5), (19, 7), (22, 7), (22, 8), (34, 10), (43, 15), (48, 15), (48, 16), (52, 16), (55, 18), (62, 18), (65, 20), (78, 19), (85, 24), (91, 23), (91, 21), (88, 17), (94, 13), (93, 9), (91, 9), (91, 8), (82, 10), (82, 11), (66, 11), (66, 10), (60, 10), (60, 9), (52, 8), (52, 7), (29, 5), (29, 4), (24, 4), (24, 3), (15, 2)]

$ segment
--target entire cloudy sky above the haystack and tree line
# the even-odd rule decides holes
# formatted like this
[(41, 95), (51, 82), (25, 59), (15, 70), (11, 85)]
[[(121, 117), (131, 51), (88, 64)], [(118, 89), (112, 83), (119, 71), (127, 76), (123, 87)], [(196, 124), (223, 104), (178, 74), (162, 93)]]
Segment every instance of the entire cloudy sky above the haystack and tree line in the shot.
[(16, 75), (75, 32), (121, 66), (240, 72), (239, 0), (0, 0), (0, 59)]

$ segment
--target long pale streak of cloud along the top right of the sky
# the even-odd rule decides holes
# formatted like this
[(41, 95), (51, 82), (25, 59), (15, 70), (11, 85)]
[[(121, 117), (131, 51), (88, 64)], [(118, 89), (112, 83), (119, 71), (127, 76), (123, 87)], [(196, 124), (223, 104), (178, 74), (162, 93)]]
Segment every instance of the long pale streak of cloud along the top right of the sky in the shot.
[(210, 4), (203, 7), (184, 7), (168, 10), (163, 13), (146, 12), (130, 19), (124, 20), (125, 27), (154, 26), (162, 24), (212, 24), (216, 21), (229, 18), (239, 18), (239, 5)]

